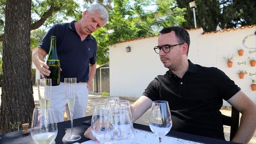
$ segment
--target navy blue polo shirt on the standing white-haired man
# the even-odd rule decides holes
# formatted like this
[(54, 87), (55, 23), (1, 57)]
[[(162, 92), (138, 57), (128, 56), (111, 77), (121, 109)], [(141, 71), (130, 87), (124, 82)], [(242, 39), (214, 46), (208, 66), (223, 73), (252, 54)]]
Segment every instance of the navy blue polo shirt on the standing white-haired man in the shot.
[(89, 63), (96, 63), (97, 42), (92, 35), (81, 41), (74, 22), (55, 24), (45, 34), (39, 44), (47, 54), (50, 49), (51, 36), (56, 36), (56, 47), (61, 63), (61, 82), (64, 78), (77, 78), (77, 82), (89, 79)]

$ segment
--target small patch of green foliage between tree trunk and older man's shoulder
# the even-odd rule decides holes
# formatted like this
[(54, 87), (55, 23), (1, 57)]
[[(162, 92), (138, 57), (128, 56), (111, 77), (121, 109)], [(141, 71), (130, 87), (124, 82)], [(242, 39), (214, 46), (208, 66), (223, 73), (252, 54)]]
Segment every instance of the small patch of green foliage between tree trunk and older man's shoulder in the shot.
[(31, 31), (30, 34), (30, 48), (38, 47), (40, 41), (44, 37), (46, 31), (42, 29), (36, 29)]

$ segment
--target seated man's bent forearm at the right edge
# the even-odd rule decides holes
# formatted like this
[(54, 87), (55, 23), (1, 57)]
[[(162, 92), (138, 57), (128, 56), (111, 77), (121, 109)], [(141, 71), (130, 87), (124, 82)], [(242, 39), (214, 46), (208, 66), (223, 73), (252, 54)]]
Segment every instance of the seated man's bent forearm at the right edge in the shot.
[(247, 110), (242, 113), (239, 129), (235, 134), (232, 142), (248, 143), (255, 133), (255, 105), (251, 107), (250, 111)]

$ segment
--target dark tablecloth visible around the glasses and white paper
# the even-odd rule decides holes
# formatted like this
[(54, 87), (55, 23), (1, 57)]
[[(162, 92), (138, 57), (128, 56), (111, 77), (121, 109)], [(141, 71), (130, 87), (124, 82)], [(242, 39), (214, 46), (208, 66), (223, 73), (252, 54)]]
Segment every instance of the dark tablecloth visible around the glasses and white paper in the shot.
[[(88, 127), (90, 127), (90, 125), (83, 124), (82, 122), (85, 120), (91, 119), (91, 117), (92, 116), (87, 116), (84, 118), (74, 119), (74, 134), (79, 134), (82, 136), (82, 138), (72, 143), (75, 143), (75, 142), (82, 143), (84, 141), (89, 140), (83, 136), (83, 133), (86, 131)], [(58, 135), (55, 139), (56, 144), (70, 144), (69, 142), (62, 140), (65, 134), (68, 135), (71, 133), (70, 127), (71, 127), (70, 120), (58, 123)], [(145, 130), (145, 131), (151, 131), (149, 126), (140, 125), (136, 123), (134, 123), (134, 128)], [(186, 134), (186, 133), (172, 131), (172, 130), (167, 135), (175, 138), (181, 138), (181, 139), (195, 141), (199, 143), (205, 143), (205, 144), (236, 144), (229, 141), (197, 136), (193, 134)], [(22, 134), (22, 131), (10, 132), (7, 134), (0, 135), (0, 137), (1, 137), (0, 144), (35, 144), (30, 134)]]

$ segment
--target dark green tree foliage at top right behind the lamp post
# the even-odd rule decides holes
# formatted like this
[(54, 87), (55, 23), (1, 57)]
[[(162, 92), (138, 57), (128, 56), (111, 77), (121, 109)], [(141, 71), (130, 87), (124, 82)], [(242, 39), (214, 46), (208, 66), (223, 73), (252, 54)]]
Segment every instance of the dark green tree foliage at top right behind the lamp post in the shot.
[[(190, 29), (194, 28), (193, 10), (189, 7), (192, 0), (176, 0), (177, 6), (186, 8), (186, 22), (181, 26)], [(252, 25), (256, 23), (256, 2), (255, 0), (195, 0), (197, 27), (204, 31), (216, 31), (219, 25), (221, 29)]]

